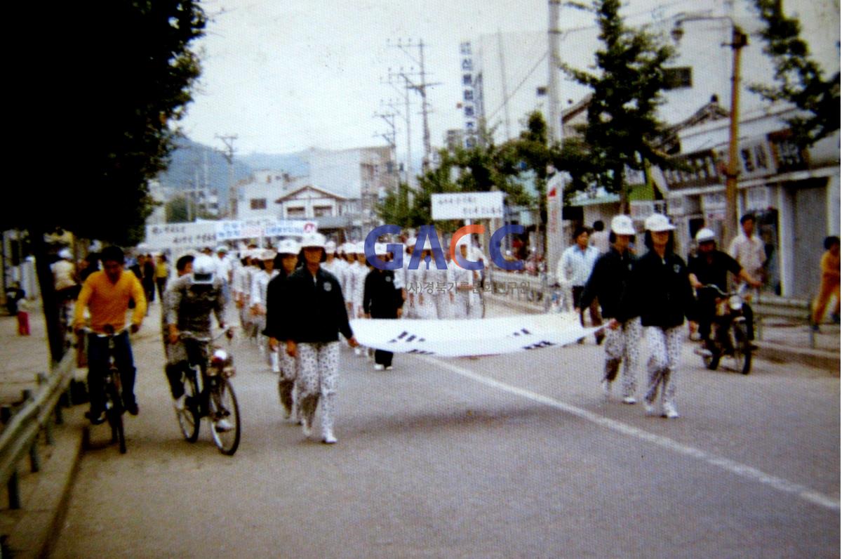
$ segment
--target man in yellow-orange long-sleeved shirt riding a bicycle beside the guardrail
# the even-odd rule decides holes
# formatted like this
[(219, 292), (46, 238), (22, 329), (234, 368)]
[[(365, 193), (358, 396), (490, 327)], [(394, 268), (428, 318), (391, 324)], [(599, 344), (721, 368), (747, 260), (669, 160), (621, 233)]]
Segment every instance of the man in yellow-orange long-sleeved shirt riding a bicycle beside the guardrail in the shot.
[(120, 384), (123, 387), (125, 410), (136, 416), (135, 363), (131, 354), (129, 333), (125, 331), (125, 314), (129, 301), (134, 299), (135, 308), (131, 315), (131, 333), (140, 330), (143, 317), (147, 314), (147, 298), (137, 277), (123, 269), (125, 255), (120, 247), (106, 247), (101, 254), (103, 270), (95, 271), (85, 280), (76, 302), (73, 326), (80, 332), (85, 324), (85, 309), (90, 313), (88, 335), (88, 392), (91, 409), (88, 418), (94, 425), (105, 421), (103, 400), (103, 379), (108, 373), (108, 340), (96, 333), (120, 332), (115, 337), (115, 362), (120, 368)]

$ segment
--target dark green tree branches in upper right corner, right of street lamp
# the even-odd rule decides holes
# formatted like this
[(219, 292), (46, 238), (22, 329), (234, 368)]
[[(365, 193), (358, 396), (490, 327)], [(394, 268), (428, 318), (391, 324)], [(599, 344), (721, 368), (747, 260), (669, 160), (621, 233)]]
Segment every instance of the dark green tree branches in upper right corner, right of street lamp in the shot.
[[(770, 87), (754, 84), (751, 89), (771, 101), (785, 100), (804, 111), (804, 116), (791, 118), (793, 140), (802, 148), (839, 130), (839, 72), (829, 78), (810, 56), (807, 43), (801, 39), (801, 24), (787, 18), (781, 0), (754, 0), (765, 28), (764, 52), (775, 64), (775, 80)], [(838, 18), (837, 18), (838, 19)]]

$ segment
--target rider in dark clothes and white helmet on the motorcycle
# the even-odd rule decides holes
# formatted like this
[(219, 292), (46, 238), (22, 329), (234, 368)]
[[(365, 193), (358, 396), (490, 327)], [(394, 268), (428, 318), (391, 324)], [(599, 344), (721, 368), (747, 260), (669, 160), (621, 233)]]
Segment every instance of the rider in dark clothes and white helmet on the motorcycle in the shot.
[[(696, 290), (695, 322), (698, 323), (699, 337), (701, 338), (701, 351), (711, 352), (713, 341), (711, 341), (711, 324), (716, 316), (717, 297), (716, 290), (704, 288), (706, 285), (715, 285), (723, 292), (728, 292), (728, 272), (740, 281), (748, 283), (753, 288), (759, 288), (759, 282), (751, 276), (748, 270), (740, 266), (722, 250), (717, 250), (717, 235), (709, 228), (701, 228), (695, 234), (696, 254), (690, 256), (687, 261), (687, 269), (690, 271), (690, 285)], [(754, 340), (754, 314), (748, 304), (743, 305), (743, 316), (745, 317), (746, 331), (749, 340)]]

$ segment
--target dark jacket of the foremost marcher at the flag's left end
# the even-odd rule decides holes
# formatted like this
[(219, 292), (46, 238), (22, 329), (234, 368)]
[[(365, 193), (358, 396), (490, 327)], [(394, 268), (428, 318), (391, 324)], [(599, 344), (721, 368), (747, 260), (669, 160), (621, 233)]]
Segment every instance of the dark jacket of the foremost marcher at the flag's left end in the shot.
[(337, 341), (338, 332), (347, 339), (354, 336), (342, 288), (329, 271), (319, 268), (313, 282), (306, 266), (299, 268), (287, 279), (285, 292), (290, 320), (283, 320), (277, 339), (316, 343)]

